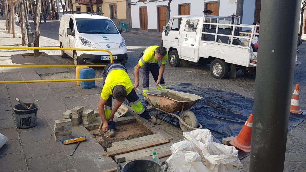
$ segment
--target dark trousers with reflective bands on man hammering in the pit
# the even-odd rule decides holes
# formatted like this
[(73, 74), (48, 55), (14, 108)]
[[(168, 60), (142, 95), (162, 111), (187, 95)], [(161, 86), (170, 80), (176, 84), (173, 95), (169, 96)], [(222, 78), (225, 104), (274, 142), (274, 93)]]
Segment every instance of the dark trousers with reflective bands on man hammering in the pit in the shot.
[[(102, 77), (103, 77), (103, 85), (105, 84), (105, 79), (107, 77), (107, 74), (113, 70), (113, 69), (122, 69), (125, 72), (127, 72), (127, 69), (125, 66), (123, 66), (120, 63), (110, 63), (105, 66)], [(115, 79), (115, 78), (114, 78)], [(145, 119), (150, 119), (151, 116), (148, 114), (147, 110), (144, 109), (143, 105), (140, 102), (140, 99), (138, 95), (136, 94), (134, 88), (132, 91), (126, 96), (126, 99), (131, 103), (132, 108), (136, 111), (138, 115)], [(106, 101), (106, 104), (104, 105), (104, 112), (105, 116), (109, 116), (111, 111), (113, 110), (113, 96), (109, 96), (109, 98)], [(109, 121), (108, 123), (108, 128), (111, 129), (111, 127), (115, 128), (115, 122), (114, 121)]]

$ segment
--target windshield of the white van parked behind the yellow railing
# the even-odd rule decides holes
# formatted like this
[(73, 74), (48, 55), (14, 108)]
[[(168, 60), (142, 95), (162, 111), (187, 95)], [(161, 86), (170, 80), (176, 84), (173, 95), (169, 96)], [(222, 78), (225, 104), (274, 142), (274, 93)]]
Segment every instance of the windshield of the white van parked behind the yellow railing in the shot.
[(114, 23), (106, 19), (76, 19), (76, 27), (79, 33), (118, 34)]

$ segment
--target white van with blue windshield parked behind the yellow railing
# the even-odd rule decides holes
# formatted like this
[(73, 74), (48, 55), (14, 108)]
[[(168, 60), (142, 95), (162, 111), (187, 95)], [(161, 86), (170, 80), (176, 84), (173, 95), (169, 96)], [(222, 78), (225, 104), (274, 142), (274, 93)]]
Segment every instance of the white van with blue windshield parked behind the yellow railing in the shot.
[[(125, 65), (128, 53), (125, 40), (114, 22), (91, 14), (65, 14), (59, 27), (61, 48), (105, 49), (113, 54), (114, 62)], [(110, 54), (104, 51), (61, 50), (62, 58), (73, 58), (74, 64), (108, 64)]]

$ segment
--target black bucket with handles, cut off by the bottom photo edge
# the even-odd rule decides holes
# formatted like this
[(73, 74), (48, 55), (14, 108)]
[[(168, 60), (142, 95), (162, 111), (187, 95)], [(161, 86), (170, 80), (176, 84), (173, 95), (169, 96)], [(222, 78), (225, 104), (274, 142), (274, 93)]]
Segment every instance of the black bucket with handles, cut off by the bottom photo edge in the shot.
[[(165, 165), (165, 169), (162, 166)], [(162, 162), (162, 165), (147, 160), (147, 159), (136, 159), (126, 163), (123, 167), (118, 164), (117, 171), (119, 172), (166, 172), (168, 170), (168, 163)]]

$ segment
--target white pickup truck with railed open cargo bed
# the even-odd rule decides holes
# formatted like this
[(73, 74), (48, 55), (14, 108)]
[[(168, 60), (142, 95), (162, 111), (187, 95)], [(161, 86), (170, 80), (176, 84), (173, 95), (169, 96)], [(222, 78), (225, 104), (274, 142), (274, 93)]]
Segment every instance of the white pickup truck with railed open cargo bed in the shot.
[[(255, 74), (257, 52), (251, 38), (255, 38), (259, 25), (239, 24), (237, 16), (176, 16), (172, 17), (162, 32), (162, 46), (169, 52), (169, 64), (178, 67), (181, 59), (209, 64), (211, 75), (225, 79), (231, 71)], [(241, 29), (250, 32), (239, 32)], [(251, 34), (243, 37), (241, 34)], [(241, 40), (247, 40), (247, 42)], [(253, 48), (252, 48), (253, 47)], [(260, 57), (259, 57), (260, 58)], [(300, 62), (296, 62), (300, 64)], [(235, 70), (231, 70), (235, 69)]]

